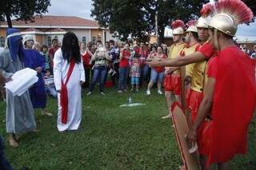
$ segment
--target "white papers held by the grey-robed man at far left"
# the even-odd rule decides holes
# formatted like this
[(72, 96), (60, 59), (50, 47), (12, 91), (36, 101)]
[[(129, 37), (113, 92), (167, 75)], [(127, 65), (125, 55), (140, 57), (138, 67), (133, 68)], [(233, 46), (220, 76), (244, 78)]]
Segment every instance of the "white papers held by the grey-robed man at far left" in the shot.
[(38, 82), (37, 72), (34, 69), (22, 69), (14, 73), (12, 81), (6, 83), (5, 88), (9, 89), (14, 96), (21, 96), (34, 83)]

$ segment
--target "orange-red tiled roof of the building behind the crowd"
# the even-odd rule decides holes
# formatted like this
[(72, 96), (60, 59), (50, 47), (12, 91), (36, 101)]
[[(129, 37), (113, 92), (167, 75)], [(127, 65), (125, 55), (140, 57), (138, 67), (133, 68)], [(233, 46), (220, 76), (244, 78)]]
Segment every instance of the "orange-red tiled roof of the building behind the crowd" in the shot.
[[(50, 16), (43, 15), (35, 16), (34, 22), (24, 22), (12, 20), (13, 26), (58, 26), (58, 27), (68, 27), (68, 26), (84, 26), (84, 27), (99, 27), (98, 22), (94, 22), (84, 18), (78, 17), (66, 17), (66, 16)], [(6, 22), (2, 22), (2, 25), (7, 25)]]

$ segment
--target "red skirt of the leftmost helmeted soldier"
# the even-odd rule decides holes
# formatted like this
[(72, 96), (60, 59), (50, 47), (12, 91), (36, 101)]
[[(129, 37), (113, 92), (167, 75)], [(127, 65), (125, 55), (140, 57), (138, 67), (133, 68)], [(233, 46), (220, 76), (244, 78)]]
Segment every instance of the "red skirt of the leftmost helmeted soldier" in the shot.
[(182, 77), (179, 74), (168, 74), (166, 75), (163, 86), (166, 92), (173, 92), (175, 95), (181, 95), (182, 93)]

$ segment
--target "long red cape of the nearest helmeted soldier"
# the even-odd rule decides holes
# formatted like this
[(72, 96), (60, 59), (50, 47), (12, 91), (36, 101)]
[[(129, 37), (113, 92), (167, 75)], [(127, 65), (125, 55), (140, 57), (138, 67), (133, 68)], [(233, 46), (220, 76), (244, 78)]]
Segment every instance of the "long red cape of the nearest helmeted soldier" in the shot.
[(254, 61), (231, 46), (217, 53), (212, 65), (208, 74), (216, 82), (206, 165), (246, 153), (248, 126), (256, 106)]

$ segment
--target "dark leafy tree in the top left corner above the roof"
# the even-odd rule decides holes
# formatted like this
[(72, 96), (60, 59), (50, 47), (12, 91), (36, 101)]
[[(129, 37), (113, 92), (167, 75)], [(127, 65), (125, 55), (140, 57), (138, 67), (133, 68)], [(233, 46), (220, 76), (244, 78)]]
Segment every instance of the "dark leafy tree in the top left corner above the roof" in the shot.
[(18, 20), (33, 21), (34, 14), (48, 12), (50, 0), (1, 0), (0, 2), (0, 21), (6, 21), (8, 27), (12, 27), (11, 17)]

